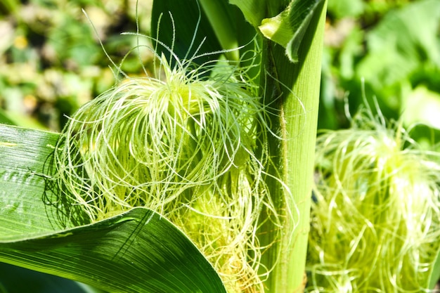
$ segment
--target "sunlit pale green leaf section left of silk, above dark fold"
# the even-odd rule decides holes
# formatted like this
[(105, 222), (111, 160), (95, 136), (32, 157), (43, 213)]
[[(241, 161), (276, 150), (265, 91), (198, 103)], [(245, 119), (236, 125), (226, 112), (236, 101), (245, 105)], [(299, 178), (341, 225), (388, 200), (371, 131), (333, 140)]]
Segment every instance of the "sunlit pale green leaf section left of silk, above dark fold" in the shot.
[(56, 220), (53, 206), (44, 204), (44, 163), (58, 134), (0, 125), (0, 240), (16, 240), (72, 228)]

